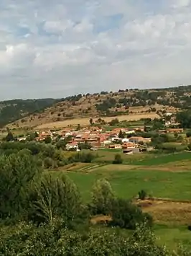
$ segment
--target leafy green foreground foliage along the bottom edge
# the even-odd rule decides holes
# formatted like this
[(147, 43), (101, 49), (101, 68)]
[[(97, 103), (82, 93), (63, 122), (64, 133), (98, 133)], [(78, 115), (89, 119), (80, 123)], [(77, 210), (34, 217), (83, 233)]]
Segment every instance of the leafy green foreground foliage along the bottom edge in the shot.
[(0, 236), (2, 256), (170, 256), (164, 247), (156, 245), (153, 232), (145, 226), (137, 226), (129, 237), (103, 229), (80, 234), (65, 229), (62, 220), (55, 220), (51, 225), (4, 226)]

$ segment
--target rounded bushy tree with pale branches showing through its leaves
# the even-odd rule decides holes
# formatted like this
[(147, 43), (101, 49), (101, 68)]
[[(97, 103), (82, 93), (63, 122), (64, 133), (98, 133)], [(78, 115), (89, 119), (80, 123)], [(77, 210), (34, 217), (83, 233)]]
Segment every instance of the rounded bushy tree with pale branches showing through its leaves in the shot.
[(55, 217), (65, 223), (74, 221), (82, 213), (80, 193), (65, 175), (43, 175), (29, 192), (29, 219), (52, 224)]

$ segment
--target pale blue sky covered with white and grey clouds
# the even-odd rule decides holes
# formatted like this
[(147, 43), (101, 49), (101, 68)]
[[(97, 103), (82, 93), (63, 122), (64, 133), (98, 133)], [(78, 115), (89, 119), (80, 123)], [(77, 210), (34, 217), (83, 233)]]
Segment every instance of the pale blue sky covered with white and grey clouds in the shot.
[(0, 100), (191, 84), (191, 0), (1, 0)]

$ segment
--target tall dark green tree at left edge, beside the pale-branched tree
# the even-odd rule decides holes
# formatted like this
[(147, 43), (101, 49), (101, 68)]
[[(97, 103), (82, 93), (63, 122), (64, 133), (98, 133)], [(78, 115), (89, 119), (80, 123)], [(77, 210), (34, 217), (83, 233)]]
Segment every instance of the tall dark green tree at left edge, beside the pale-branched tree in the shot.
[(29, 154), (0, 156), (0, 216), (2, 219), (24, 213), (29, 184), (39, 174)]

